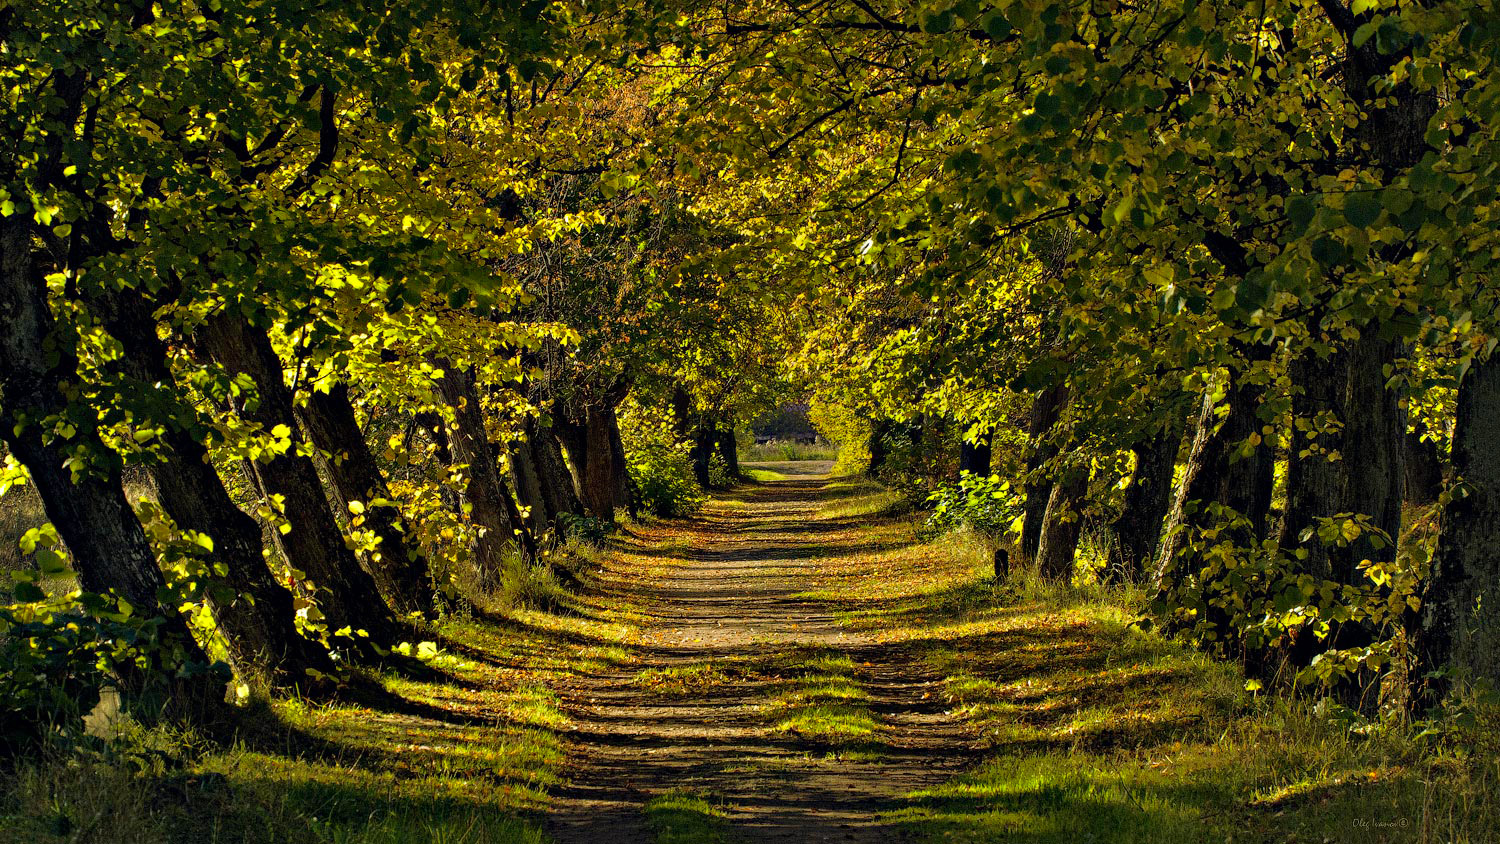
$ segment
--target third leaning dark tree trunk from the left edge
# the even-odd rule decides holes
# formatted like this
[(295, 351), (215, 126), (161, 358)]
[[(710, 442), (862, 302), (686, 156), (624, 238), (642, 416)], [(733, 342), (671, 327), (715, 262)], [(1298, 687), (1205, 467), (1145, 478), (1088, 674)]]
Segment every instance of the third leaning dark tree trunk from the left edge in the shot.
[(358, 559), (344, 540), (339, 522), (328, 507), (328, 498), (312, 459), (298, 454), (302, 435), (292, 411), (291, 390), (282, 375), (282, 361), (272, 348), (266, 331), (250, 327), (244, 318), (218, 313), (202, 324), (200, 342), (219, 364), (234, 373), (249, 376), (256, 400), (244, 403), (240, 415), (260, 423), (266, 430), (284, 426), (291, 448), (270, 462), (250, 468), (261, 489), (282, 496), (284, 516), (290, 531), (273, 532), (286, 562), (312, 580), (318, 610), (328, 633), (352, 631), (352, 642), (366, 655), (375, 649), (364, 643), (364, 631), (375, 643), (390, 643), (399, 637), (398, 625), (375, 580), (360, 568)]

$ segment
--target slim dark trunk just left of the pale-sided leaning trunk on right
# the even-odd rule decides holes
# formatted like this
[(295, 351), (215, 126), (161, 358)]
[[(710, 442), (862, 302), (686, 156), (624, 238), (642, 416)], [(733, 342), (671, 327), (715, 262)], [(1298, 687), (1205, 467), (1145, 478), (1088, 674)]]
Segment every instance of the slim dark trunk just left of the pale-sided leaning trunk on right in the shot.
[(1155, 559), (1161, 526), (1172, 507), (1172, 475), (1182, 447), (1182, 423), (1168, 421), (1155, 436), (1137, 442), (1136, 471), (1125, 490), (1125, 505), (1110, 526), (1106, 577), (1134, 583)]

